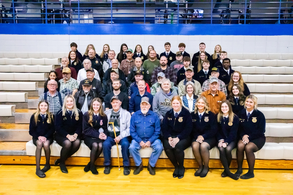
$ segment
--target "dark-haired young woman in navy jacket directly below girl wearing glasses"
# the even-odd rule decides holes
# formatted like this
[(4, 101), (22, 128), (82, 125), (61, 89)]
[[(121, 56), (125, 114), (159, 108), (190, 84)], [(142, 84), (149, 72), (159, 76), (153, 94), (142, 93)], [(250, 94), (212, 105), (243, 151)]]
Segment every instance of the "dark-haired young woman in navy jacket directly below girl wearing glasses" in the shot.
[(232, 93), (229, 93), (229, 101), (232, 106), (233, 113), (237, 114), (244, 109), (244, 102), (246, 96), (243, 94), (243, 89), (239, 84), (234, 84), (232, 87)]

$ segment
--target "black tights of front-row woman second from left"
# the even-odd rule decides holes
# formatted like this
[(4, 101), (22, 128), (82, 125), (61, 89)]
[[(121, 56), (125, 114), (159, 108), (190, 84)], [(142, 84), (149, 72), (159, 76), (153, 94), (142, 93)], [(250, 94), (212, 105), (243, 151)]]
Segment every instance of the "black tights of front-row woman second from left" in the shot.
[(60, 152), (60, 164), (65, 165), (65, 160), (78, 151), (80, 144), (80, 139), (76, 139), (75, 141), (63, 141)]

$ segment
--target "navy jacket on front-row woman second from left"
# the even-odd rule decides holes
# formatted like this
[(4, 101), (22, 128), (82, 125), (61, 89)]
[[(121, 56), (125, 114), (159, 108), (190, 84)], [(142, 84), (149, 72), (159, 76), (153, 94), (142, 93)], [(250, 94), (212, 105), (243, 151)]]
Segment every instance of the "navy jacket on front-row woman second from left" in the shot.
[(68, 134), (74, 135), (76, 133), (81, 136), (83, 114), (80, 110), (78, 114), (78, 120), (76, 120), (74, 113), (72, 113), (72, 117), (68, 112), (65, 113), (65, 116), (62, 116), (62, 109), (59, 110), (55, 117), (56, 134), (66, 137)]

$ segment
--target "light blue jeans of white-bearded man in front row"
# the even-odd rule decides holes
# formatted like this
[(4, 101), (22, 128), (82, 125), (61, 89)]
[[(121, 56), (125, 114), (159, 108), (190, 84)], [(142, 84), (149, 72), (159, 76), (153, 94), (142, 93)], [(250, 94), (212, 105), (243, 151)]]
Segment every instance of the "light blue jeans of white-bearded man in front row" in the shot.
[[(139, 154), (139, 150), (141, 148), (142, 147), (139, 145), (139, 143), (132, 139), (129, 147), (129, 152), (131, 153), (135, 166), (139, 166), (142, 163), (142, 158)], [(154, 141), (154, 143), (151, 144), (151, 148), (153, 149), (153, 152), (151, 153), (151, 156), (149, 158), (149, 164), (152, 167), (155, 167), (159, 157), (161, 156), (161, 153), (163, 152), (163, 145), (161, 143), (161, 140), (156, 139), (156, 141)]]

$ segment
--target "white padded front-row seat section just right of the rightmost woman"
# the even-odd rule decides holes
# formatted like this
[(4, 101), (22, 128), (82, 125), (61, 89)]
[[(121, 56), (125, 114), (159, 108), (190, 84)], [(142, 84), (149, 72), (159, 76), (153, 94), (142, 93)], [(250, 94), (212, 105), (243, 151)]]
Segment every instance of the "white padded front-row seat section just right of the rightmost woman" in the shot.
[(257, 159), (283, 159), (284, 147), (278, 143), (266, 142), (262, 149), (257, 153)]

